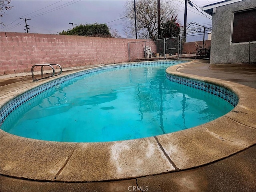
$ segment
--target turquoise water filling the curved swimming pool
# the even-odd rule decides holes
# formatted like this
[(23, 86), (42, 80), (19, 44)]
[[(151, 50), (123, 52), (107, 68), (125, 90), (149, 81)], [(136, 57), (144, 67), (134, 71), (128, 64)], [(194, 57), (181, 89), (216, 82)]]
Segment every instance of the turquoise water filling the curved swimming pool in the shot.
[(234, 108), (166, 79), (168, 66), (113, 69), (69, 80), (19, 106), (1, 129), (50, 141), (129, 140), (191, 128)]

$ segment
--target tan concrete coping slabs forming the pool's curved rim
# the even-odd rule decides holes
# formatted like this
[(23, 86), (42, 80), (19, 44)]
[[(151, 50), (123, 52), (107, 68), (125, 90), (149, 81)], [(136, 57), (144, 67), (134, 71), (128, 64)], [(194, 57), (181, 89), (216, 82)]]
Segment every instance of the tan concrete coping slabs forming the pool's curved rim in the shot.
[[(47, 142), (14, 136), (1, 130), (1, 174), (58, 182), (121, 180), (202, 166), (254, 145), (255, 89), (177, 71), (195, 62), (171, 66), (166, 72), (228, 88), (239, 98), (238, 105), (231, 112), (212, 122), (180, 132), (119, 142)], [(61, 76), (64, 74), (27, 83), (1, 98), (1, 106), (31, 87)]]

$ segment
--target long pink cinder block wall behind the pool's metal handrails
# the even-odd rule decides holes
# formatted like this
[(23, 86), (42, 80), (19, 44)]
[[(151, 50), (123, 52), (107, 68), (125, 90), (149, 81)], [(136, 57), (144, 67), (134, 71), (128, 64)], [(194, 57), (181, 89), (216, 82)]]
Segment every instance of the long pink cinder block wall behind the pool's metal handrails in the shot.
[[(30, 72), (34, 64), (62, 68), (126, 62), (128, 42), (144, 40), (0, 32), (0, 74)], [(142, 47), (137, 50), (144, 56)], [(39, 69), (39, 68), (38, 68)]]

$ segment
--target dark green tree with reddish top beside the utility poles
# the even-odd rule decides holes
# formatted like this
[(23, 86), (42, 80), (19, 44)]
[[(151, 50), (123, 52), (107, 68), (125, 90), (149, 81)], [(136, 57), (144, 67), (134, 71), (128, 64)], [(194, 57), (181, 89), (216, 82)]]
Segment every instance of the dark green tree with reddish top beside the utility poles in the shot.
[(177, 22), (177, 16), (175, 18), (172, 16), (162, 24), (161, 33), (162, 38), (178, 37), (180, 35), (180, 24)]

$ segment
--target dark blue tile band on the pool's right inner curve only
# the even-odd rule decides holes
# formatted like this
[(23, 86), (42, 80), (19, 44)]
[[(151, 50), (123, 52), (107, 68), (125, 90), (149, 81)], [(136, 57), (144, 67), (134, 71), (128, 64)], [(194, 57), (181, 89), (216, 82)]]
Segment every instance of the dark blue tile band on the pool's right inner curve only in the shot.
[(234, 94), (232, 91), (224, 87), (220, 87), (214, 84), (210, 84), (210, 83), (206, 83), (198, 80), (175, 76), (168, 73), (166, 73), (166, 77), (168, 80), (172, 82), (176, 82), (178, 84), (186, 85), (192, 88), (196, 88), (196, 89), (208, 92), (210, 94), (214, 94), (226, 100), (234, 107), (238, 104), (238, 96)]

